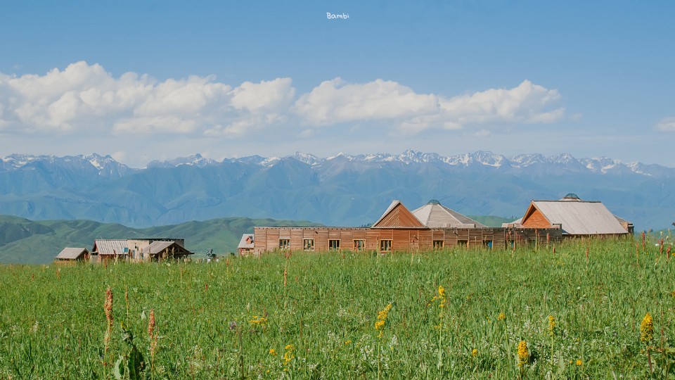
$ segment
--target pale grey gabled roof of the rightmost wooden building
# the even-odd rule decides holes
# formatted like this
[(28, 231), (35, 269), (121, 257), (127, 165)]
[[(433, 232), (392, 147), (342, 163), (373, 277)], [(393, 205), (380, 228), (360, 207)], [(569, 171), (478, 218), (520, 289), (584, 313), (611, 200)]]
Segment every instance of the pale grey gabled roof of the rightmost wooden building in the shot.
[(551, 224), (560, 224), (570, 235), (627, 234), (617, 217), (598, 201), (532, 201), (522, 224), (536, 208)]

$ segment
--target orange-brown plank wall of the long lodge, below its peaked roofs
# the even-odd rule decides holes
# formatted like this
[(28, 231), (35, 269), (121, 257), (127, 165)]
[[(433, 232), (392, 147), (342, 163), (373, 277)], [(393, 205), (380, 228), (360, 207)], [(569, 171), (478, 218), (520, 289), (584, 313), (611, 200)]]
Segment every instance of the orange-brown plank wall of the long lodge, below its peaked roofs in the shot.
[(390, 240), (390, 251), (431, 251), (434, 241), (442, 241), (442, 248), (466, 246), (492, 249), (510, 249), (514, 246), (542, 246), (562, 239), (559, 228), (444, 228), (402, 229), (369, 227), (255, 227), (254, 253), (279, 251), (279, 240), (290, 239), (291, 251), (303, 251), (304, 240), (314, 239), (314, 251), (329, 251), (330, 240), (340, 241), (340, 250), (351, 251), (354, 240), (364, 240), (364, 251), (380, 251), (380, 241)]

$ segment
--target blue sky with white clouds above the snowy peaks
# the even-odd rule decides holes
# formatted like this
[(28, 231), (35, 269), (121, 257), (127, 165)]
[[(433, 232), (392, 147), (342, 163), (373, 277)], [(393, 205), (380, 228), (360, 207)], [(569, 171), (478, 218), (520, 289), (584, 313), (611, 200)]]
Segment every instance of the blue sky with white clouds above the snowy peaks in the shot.
[(0, 156), (675, 167), (672, 1), (2, 1)]

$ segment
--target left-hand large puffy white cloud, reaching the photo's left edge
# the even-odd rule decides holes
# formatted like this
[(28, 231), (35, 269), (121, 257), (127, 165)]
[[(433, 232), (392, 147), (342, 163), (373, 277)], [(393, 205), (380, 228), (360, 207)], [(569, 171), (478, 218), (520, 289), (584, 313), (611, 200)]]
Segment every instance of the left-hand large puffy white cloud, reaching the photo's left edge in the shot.
[(115, 78), (82, 61), (46, 75), (0, 74), (0, 128), (58, 134), (244, 134), (283, 120), (295, 97), (290, 78), (239, 87), (214, 77), (158, 82)]

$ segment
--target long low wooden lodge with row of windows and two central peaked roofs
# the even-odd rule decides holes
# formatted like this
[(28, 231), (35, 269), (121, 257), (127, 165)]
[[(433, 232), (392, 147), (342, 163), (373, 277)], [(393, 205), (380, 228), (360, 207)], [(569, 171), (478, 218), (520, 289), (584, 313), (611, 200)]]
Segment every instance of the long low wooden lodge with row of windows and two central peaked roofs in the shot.
[(411, 212), (393, 201), (371, 227), (254, 227), (253, 253), (271, 251), (430, 251), (456, 246), (510, 248), (560, 241), (560, 227), (486, 227), (430, 201)]

